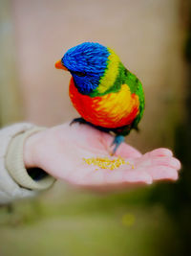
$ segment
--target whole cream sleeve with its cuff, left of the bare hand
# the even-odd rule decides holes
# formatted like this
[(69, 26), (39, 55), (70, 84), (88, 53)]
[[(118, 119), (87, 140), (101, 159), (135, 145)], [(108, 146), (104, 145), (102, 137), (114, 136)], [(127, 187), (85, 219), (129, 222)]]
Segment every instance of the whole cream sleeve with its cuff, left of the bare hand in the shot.
[(54, 178), (45, 175), (32, 179), (24, 166), (23, 146), (32, 133), (42, 130), (31, 124), (16, 124), (0, 130), (0, 203), (32, 197), (37, 191), (53, 185)]

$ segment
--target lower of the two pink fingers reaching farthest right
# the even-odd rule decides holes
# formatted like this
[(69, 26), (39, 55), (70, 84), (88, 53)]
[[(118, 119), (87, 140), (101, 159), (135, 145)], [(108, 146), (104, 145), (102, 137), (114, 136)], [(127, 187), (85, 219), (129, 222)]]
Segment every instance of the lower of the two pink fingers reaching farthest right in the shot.
[(177, 180), (179, 177), (178, 172), (174, 168), (165, 166), (150, 167), (147, 169), (147, 172), (152, 175), (154, 180)]

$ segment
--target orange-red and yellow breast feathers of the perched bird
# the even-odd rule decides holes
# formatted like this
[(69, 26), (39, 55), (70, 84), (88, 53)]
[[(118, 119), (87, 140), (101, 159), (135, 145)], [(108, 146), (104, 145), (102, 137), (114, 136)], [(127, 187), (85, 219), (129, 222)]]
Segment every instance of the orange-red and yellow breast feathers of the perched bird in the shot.
[(138, 116), (138, 95), (131, 94), (127, 84), (122, 84), (118, 92), (90, 97), (78, 92), (72, 78), (69, 95), (80, 116), (99, 127), (119, 128), (127, 126)]

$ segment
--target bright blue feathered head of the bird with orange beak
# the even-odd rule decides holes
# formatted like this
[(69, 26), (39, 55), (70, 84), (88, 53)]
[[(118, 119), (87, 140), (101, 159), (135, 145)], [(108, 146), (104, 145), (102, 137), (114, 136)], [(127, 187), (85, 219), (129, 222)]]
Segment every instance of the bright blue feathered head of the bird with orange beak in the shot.
[(107, 47), (95, 42), (84, 42), (69, 49), (55, 63), (55, 67), (70, 71), (78, 91), (89, 94), (98, 86), (107, 68), (109, 55)]

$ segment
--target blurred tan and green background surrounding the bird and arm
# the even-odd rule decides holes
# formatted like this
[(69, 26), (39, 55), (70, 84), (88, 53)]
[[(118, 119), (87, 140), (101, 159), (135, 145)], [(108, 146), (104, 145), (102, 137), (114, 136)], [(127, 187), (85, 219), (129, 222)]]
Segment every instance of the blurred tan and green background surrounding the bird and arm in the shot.
[(115, 49), (142, 81), (146, 109), (127, 142), (174, 151), (180, 180), (116, 194), (57, 181), (0, 207), (0, 255), (191, 255), (191, 2), (0, 0), (0, 126), (52, 127), (76, 112), (55, 60), (83, 41)]

